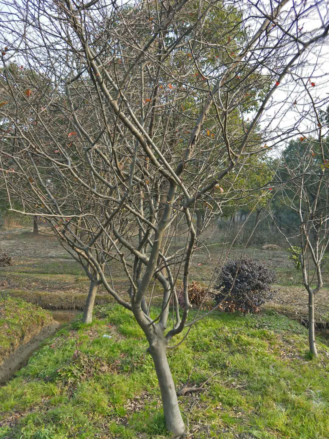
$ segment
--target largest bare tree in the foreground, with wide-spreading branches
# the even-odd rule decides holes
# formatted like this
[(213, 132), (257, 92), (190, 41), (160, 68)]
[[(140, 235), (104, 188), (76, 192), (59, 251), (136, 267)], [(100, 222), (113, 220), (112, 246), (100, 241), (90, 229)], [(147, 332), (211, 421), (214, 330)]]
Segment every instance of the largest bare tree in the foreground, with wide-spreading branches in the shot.
[[(273, 128), (275, 96), (286, 114), (291, 96), (277, 92), (297, 90), (328, 34), (327, 12), (321, 2), (288, 0), (2, 3), (1, 172), (11, 210), (45, 218), (93, 282), (134, 314), (167, 428), (180, 435), (166, 350), (204, 317), (189, 319), (193, 253), (207, 222), (236, 197), (250, 156), (296, 129)], [(308, 17), (318, 28), (303, 32)], [(27, 85), (9, 74), (13, 64), (31, 71)], [(114, 260), (127, 292), (111, 281)], [(156, 283), (161, 312), (151, 318)]]

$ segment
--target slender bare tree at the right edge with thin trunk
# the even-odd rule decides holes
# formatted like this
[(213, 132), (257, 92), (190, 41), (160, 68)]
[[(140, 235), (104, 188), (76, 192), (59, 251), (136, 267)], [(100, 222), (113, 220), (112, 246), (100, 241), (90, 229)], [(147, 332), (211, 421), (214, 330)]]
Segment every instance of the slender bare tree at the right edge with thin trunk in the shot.
[[(295, 266), (301, 270), (308, 292), (308, 341), (310, 352), (317, 356), (315, 345), (314, 300), (322, 288), (322, 263), (329, 245), (329, 161), (324, 141), (327, 130), (315, 109), (316, 139), (300, 137), (290, 143), (279, 164), (275, 184), (281, 185), (276, 194), (282, 205), (296, 217), (298, 233), (282, 229), (272, 215), (279, 234), (287, 241)], [(324, 132), (323, 132), (324, 131)], [(287, 230), (287, 231), (285, 231)], [(293, 245), (296, 239), (299, 246)]]

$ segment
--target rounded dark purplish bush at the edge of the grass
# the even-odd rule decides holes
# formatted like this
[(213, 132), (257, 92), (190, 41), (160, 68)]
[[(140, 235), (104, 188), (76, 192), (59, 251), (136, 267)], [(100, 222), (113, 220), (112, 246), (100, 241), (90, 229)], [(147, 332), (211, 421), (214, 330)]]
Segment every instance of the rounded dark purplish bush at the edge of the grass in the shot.
[(223, 311), (257, 313), (259, 307), (272, 298), (270, 284), (275, 279), (275, 273), (253, 259), (229, 260), (218, 275), (216, 302), (230, 293), (220, 306)]

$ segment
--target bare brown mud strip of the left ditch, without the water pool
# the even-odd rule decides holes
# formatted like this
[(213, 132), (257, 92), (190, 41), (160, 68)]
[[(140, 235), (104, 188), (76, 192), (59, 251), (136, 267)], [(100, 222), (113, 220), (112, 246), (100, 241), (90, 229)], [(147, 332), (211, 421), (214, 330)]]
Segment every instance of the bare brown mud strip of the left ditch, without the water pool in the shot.
[(41, 329), (41, 331), (35, 335), (29, 342), (18, 346), (14, 352), (0, 365), (0, 383), (8, 381), (18, 369), (25, 366), (27, 360), (39, 349), (40, 344), (48, 337), (54, 334), (54, 332), (60, 327), (57, 321), (47, 325)]

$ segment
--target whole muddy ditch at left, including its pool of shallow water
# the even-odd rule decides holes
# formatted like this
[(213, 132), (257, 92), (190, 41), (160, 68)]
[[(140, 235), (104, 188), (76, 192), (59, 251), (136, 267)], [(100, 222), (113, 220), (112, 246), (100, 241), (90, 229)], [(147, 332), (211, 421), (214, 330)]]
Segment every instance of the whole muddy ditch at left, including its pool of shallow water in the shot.
[(52, 314), (54, 322), (43, 327), (39, 334), (35, 335), (28, 343), (19, 345), (0, 365), (0, 384), (8, 381), (16, 371), (24, 367), (32, 353), (39, 349), (46, 338), (51, 337), (59, 327), (69, 323), (78, 314), (78, 311), (72, 309), (57, 309), (49, 312)]

